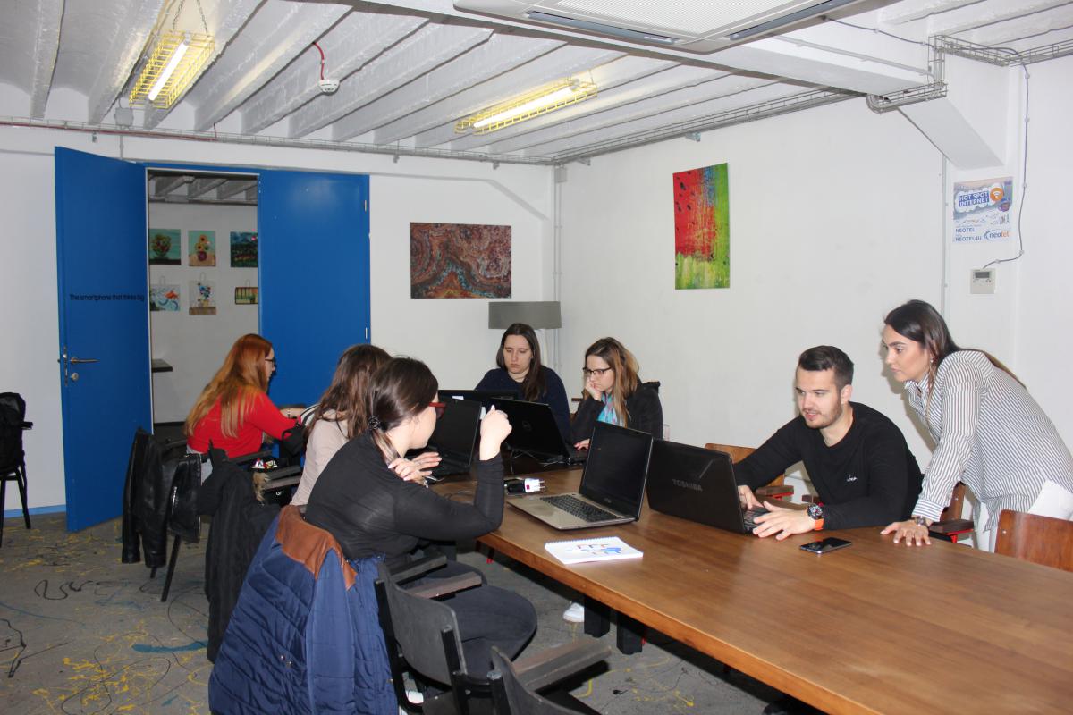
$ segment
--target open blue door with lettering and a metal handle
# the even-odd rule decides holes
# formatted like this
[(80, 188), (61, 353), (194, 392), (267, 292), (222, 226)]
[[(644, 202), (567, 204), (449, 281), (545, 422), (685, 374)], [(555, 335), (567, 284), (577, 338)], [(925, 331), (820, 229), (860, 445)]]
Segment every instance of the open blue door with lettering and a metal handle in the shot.
[(56, 148), (68, 528), (119, 516), (131, 440), (152, 428), (145, 167)]

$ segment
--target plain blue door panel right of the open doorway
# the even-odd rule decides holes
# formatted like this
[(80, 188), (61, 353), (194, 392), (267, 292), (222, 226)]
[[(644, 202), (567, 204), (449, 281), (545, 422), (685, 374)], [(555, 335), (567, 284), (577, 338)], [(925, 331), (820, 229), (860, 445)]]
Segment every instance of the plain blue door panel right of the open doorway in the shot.
[(261, 334), (276, 348), (277, 405), (317, 402), (339, 355), (369, 342), (368, 198), (368, 176), (261, 173)]

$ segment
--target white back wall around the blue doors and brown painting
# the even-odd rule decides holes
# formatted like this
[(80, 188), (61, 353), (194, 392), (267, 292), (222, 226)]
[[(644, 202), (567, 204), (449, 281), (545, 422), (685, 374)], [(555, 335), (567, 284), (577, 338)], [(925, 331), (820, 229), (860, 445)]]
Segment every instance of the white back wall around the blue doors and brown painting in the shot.
[[(0, 192), (4, 196), (0, 250), (6, 269), (0, 281), (0, 301), (8, 307), (0, 312), (4, 337), (0, 390), (21, 392), (29, 419), (35, 423), (26, 435), (31, 507), (64, 503), (56, 362), (56, 145), (136, 161), (371, 175), (372, 340), (392, 353), (427, 360), (444, 385), (475, 384), (491, 364), (499, 331), (485, 327), (486, 300), (410, 300), (410, 221), (511, 224), (514, 297), (550, 298), (548, 168), (502, 165), (494, 169), (490, 164), (405, 157), (394, 163), (389, 155), (342, 151), (0, 128)], [(399, 233), (403, 227), (405, 233)], [(17, 502), (9, 500), (6, 507), (17, 508)]]

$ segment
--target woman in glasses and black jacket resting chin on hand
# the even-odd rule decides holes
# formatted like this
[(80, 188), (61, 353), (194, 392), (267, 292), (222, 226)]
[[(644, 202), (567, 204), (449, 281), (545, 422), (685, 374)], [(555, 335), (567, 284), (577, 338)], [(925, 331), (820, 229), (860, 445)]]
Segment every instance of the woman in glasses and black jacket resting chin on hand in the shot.
[(571, 424), (578, 449), (589, 446), (592, 428), (611, 422), (663, 436), (659, 383), (642, 383), (637, 360), (614, 338), (601, 338), (585, 351), (585, 399)]

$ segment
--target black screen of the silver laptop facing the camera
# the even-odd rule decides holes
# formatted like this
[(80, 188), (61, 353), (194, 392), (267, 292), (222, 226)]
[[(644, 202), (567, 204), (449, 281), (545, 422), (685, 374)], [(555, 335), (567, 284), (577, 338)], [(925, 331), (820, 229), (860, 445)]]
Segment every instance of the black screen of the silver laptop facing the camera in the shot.
[(652, 436), (607, 422), (597, 422), (589, 459), (582, 475), (582, 496), (624, 515), (641, 515)]

